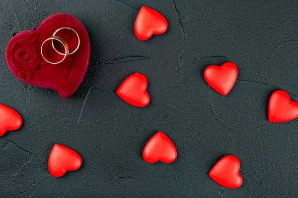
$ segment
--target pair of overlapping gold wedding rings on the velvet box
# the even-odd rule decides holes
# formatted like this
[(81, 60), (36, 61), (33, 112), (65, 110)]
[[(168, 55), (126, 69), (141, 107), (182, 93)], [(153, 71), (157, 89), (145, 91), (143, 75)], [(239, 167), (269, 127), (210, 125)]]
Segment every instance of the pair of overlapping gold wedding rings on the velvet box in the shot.
[[(76, 36), (77, 36), (78, 44), (77, 44), (76, 49), (74, 49), (74, 51), (72, 51), (72, 52), (70, 52), (68, 44), (67, 44), (63, 39), (61, 39), (60, 37), (57, 37), (57, 36), (56, 36), (56, 34), (57, 34), (59, 31), (63, 30), (63, 29), (69, 29), (69, 30), (72, 30), (72, 31), (76, 34)], [(44, 46), (44, 44), (45, 44), (46, 42), (48, 42), (48, 41), (52, 41), (52, 47), (53, 47), (53, 49), (54, 49), (57, 53), (59, 53), (59, 54), (61, 54), (61, 55), (64, 55), (63, 59), (60, 60), (59, 62), (51, 62), (51, 61), (49, 61), (49, 60), (47, 60), (47, 59), (45, 58), (45, 56), (44, 56), (44, 54), (43, 54), (43, 46)], [(62, 53), (62, 52), (60, 52), (58, 49), (55, 48), (55, 46), (54, 46), (54, 41), (59, 41), (59, 42), (63, 45), (63, 47), (64, 47), (64, 49), (65, 49), (65, 53)], [(63, 62), (63, 61), (66, 59), (66, 57), (67, 57), (68, 55), (71, 55), (71, 54), (73, 54), (75, 51), (77, 51), (77, 49), (79, 48), (79, 45), (80, 45), (80, 39), (79, 39), (79, 36), (78, 36), (77, 32), (76, 32), (73, 28), (70, 28), (70, 27), (62, 27), (62, 28), (59, 28), (58, 30), (56, 30), (56, 31), (54, 32), (54, 34), (53, 34), (51, 37), (49, 37), (48, 39), (46, 39), (46, 40), (42, 43), (41, 48), (40, 48), (40, 51), (41, 51), (41, 55), (42, 55), (42, 57), (45, 59), (45, 61), (47, 61), (48, 63), (51, 63), (51, 64), (59, 64), (59, 63)]]

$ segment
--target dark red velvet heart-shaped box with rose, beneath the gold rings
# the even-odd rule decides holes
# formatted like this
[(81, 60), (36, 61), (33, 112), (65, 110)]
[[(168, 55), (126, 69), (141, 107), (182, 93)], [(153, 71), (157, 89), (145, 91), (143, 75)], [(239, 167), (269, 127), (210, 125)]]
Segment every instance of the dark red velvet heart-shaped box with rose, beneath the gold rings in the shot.
[[(61, 27), (73, 28), (79, 35), (78, 50), (62, 63), (50, 64), (41, 57), (42, 43)], [(68, 44), (70, 51), (77, 46), (77, 37), (71, 30), (61, 30), (57, 36)], [(44, 54), (52, 62), (58, 62), (58, 54), (51, 42), (44, 45)], [(36, 87), (55, 90), (62, 98), (71, 97), (82, 82), (88, 68), (90, 42), (84, 25), (70, 14), (55, 14), (44, 20), (36, 30), (28, 30), (14, 36), (6, 49), (6, 61), (16, 78)]]

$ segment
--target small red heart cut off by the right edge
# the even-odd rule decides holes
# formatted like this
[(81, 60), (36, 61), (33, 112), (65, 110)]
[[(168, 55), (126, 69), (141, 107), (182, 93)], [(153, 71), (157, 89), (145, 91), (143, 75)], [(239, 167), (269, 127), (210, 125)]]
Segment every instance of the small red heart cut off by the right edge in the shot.
[(268, 118), (270, 122), (287, 122), (298, 117), (298, 102), (292, 101), (287, 92), (274, 92), (269, 100)]

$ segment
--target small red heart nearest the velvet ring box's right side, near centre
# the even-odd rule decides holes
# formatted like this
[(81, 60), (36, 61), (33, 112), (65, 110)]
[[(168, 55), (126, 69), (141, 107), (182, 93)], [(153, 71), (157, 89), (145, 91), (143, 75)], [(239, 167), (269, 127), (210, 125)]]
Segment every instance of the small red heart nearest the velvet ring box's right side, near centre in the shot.
[(135, 73), (123, 81), (116, 94), (131, 105), (144, 107), (150, 101), (149, 94), (146, 91), (147, 85), (148, 80), (146, 76)]

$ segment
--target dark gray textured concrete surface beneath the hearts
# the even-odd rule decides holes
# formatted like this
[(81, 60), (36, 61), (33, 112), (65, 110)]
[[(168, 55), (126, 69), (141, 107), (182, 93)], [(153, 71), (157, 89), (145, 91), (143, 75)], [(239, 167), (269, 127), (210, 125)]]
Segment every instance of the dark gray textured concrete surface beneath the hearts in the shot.
[[(164, 35), (135, 37), (142, 5), (168, 20)], [(61, 12), (80, 19), (91, 42), (70, 99), (20, 82), (5, 61), (15, 33)], [(297, 198), (298, 120), (267, 119), (273, 91), (298, 101), (297, 0), (0, 0), (0, 28), (0, 103), (23, 117), (0, 138), (0, 198)], [(203, 78), (224, 61), (239, 68), (227, 97)], [(145, 108), (115, 94), (134, 72), (149, 80)], [(172, 164), (142, 158), (158, 130), (177, 147)], [(81, 155), (79, 170), (50, 175), (55, 143)], [(241, 161), (239, 189), (208, 176), (225, 154)]]

